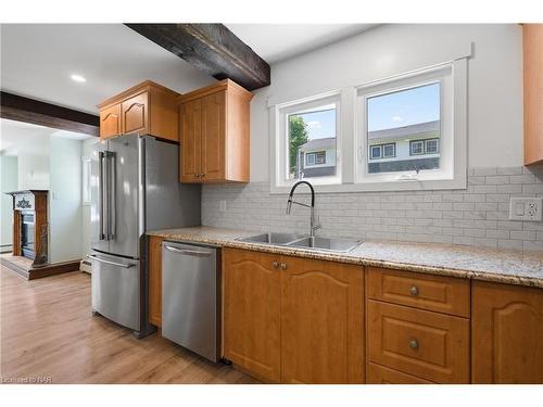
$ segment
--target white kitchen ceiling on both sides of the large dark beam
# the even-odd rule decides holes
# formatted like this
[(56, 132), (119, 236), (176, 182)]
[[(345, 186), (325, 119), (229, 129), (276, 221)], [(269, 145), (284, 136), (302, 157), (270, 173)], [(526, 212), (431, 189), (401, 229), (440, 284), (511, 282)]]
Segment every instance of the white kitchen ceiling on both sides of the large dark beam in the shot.
[[(268, 63), (375, 24), (229, 24)], [(146, 79), (178, 92), (215, 79), (123, 24), (2, 24), (3, 91), (98, 113), (97, 104)], [(73, 74), (87, 81), (73, 81)]]

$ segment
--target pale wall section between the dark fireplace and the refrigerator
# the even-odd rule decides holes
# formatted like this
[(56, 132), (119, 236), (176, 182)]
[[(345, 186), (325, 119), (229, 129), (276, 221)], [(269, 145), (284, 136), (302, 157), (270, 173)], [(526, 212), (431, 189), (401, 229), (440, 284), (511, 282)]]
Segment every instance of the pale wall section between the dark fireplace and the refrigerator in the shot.
[(83, 141), (51, 135), (49, 262), (81, 258)]

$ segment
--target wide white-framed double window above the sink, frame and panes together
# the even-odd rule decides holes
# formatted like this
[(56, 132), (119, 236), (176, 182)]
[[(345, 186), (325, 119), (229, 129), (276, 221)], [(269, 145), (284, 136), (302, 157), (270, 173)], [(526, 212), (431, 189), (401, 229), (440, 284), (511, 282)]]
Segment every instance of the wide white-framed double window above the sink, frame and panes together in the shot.
[[(272, 99), (273, 100), (273, 99)], [(467, 59), (276, 103), (273, 193), (464, 189)]]

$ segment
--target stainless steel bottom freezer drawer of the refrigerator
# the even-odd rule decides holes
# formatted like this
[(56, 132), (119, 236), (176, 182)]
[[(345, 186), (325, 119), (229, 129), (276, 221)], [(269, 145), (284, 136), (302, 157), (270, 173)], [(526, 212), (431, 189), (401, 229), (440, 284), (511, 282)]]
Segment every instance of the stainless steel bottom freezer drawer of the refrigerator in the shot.
[(140, 330), (140, 263), (92, 252), (92, 309), (135, 331)]

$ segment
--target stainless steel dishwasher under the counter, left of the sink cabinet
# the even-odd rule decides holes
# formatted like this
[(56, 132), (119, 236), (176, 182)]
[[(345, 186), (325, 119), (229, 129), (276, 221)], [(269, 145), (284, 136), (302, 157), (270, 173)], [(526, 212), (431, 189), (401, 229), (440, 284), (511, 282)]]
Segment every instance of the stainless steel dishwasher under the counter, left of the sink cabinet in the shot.
[(162, 335), (218, 361), (217, 250), (162, 243)]

